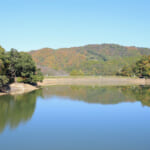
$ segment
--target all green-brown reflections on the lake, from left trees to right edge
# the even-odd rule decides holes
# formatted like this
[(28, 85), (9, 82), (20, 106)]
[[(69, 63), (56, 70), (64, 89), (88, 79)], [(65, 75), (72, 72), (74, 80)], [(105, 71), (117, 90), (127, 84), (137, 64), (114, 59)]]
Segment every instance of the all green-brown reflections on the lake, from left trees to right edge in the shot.
[(150, 87), (91, 87), (91, 86), (50, 86), (31, 93), (0, 97), (0, 132), (6, 126), (16, 128), (32, 118), (36, 109), (37, 97), (50, 99), (52, 96), (67, 97), (72, 101), (84, 101), (97, 104), (118, 104), (140, 101), (150, 106)]

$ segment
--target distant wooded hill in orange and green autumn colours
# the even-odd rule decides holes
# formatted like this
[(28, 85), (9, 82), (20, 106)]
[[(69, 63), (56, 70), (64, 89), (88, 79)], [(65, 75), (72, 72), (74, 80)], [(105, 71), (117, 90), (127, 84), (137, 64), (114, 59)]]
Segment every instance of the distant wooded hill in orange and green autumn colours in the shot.
[(45, 75), (116, 75), (150, 49), (124, 47), (115, 44), (31, 51), (33, 60)]

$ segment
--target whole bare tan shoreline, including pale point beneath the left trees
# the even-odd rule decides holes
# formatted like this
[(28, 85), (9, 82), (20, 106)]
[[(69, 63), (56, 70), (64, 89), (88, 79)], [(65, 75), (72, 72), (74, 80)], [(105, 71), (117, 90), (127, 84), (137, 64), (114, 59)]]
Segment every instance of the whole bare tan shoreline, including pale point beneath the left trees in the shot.
[[(10, 92), (2, 95), (18, 95), (39, 89), (39, 87), (53, 85), (91, 85), (91, 86), (132, 86), (132, 85), (150, 85), (150, 79), (116, 77), (116, 76), (67, 76), (67, 77), (49, 77), (44, 78), (43, 82), (38, 82), (37, 86), (24, 83), (13, 83), (10, 85)], [(38, 87), (39, 86), (39, 87)]]

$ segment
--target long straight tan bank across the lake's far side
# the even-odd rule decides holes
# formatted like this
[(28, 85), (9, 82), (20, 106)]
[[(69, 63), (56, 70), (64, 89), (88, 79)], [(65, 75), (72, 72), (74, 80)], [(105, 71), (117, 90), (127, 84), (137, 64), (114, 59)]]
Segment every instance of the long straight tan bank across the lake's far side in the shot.
[(129, 77), (49, 77), (45, 78), (39, 86), (50, 85), (99, 85), (99, 86), (125, 86), (125, 85), (150, 85), (150, 79)]

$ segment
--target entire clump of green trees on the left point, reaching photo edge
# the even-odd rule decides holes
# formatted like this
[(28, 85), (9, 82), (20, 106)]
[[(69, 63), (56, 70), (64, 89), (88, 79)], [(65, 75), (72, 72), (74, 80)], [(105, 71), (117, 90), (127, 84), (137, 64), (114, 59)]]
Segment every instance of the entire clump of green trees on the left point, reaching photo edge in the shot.
[(11, 49), (6, 52), (0, 46), (0, 91), (6, 92), (14, 82), (36, 85), (43, 80), (43, 75), (26, 52)]

